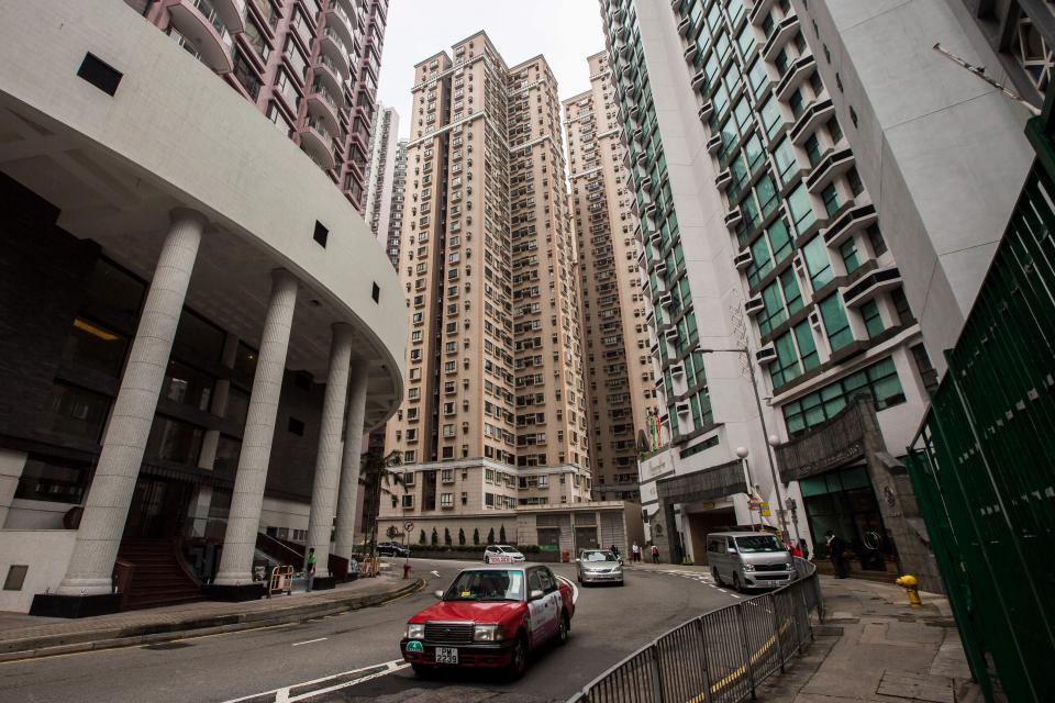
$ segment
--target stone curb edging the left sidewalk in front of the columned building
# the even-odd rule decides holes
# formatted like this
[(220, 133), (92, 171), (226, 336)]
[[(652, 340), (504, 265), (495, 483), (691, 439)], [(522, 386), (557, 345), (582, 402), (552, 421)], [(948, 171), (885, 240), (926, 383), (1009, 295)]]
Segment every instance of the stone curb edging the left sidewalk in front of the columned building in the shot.
[(374, 595), (353, 595), (321, 603), (291, 605), (289, 607), (270, 611), (214, 615), (178, 623), (135, 625), (86, 633), (45, 635), (42, 637), (16, 639), (0, 643), (0, 663), (23, 659), (54, 657), (56, 655), (114, 649), (118, 647), (154, 645), (176, 639), (287, 625), (289, 623), (304, 622), (346, 611), (382, 605), (389, 601), (420, 591), (424, 587), (424, 580), (418, 579), (413, 583), (395, 591)]

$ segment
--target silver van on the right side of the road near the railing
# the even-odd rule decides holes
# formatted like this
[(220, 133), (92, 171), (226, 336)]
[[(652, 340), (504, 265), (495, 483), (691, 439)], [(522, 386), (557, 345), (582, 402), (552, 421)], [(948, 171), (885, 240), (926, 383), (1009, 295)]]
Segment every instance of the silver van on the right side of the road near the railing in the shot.
[(796, 578), (795, 559), (774, 535), (721, 532), (707, 536), (707, 562), (718, 585), (777, 588)]

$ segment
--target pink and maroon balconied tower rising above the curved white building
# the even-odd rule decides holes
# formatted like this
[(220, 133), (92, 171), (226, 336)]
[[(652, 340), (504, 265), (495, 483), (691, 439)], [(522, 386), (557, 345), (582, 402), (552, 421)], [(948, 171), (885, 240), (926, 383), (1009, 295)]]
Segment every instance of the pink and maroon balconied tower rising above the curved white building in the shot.
[(125, 0), (221, 75), (360, 212), (388, 0)]

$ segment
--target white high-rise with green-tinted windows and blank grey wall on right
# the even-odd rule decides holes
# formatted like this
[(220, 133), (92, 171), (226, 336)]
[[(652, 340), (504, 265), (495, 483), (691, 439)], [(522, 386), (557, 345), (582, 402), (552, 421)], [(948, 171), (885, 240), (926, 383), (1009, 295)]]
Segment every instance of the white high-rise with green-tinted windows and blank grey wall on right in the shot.
[(1029, 158), (1021, 108), (931, 47), (988, 43), (960, 0), (600, 8), (670, 433), (652, 537), (834, 529), (932, 572), (897, 457)]

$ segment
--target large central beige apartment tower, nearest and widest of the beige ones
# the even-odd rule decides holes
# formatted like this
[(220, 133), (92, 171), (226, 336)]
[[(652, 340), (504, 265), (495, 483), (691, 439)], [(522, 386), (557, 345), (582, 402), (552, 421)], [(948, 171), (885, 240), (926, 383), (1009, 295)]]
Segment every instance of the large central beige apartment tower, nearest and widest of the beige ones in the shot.
[[(380, 516), (510, 531), (591, 489), (575, 241), (557, 85), (482, 32), (414, 67), (399, 275), (407, 394)], [(441, 529), (442, 532), (442, 529)]]

